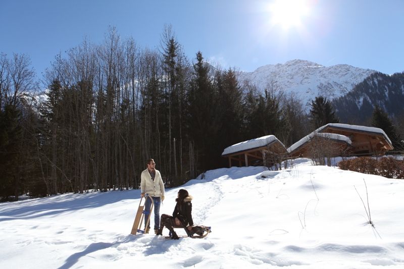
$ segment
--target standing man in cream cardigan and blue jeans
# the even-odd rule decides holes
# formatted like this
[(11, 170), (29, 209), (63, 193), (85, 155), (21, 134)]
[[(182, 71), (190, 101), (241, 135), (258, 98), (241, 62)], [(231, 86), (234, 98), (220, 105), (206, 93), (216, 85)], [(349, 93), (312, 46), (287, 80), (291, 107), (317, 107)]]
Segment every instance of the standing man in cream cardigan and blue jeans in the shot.
[[(164, 200), (164, 183), (159, 170), (156, 170), (154, 159), (147, 160), (147, 169), (140, 176), (140, 196), (149, 195), (154, 202), (155, 208), (155, 234), (160, 228), (160, 204)], [(144, 203), (144, 233), (148, 234), (150, 223), (146, 227), (146, 222), (150, 214), (150, 199), (146, 199)]]

